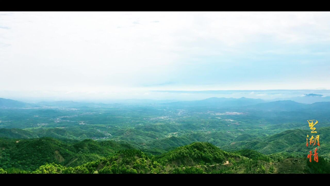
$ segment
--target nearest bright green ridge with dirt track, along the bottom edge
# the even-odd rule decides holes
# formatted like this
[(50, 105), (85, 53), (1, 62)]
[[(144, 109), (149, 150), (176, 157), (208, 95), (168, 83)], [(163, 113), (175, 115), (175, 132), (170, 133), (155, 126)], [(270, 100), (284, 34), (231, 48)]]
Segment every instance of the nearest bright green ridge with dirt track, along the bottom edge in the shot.
[[(97, 148), (86, 148), (89, 144), (78, 145), (85, 149), (83, 154), (91, 153), (92, 149), (94, 153), (103, 153)], [(271, 160), (270, 156), (253, 150), (228, 153), (205, 142), (178, 147), (160, 156), (133, 148), (117, 149), (120, 150), (107, 157), (98, 154), (101, 158), (86, 163), (80, 161), (77, 166), (50, 161), (31, 170), (35, 163), (30, 162), (27, 170), (11, 167), (0, 169), (0, 173), (330, 173), (330, 162), (321, 157), (318, 163), (284, 155), (283, 159)]]

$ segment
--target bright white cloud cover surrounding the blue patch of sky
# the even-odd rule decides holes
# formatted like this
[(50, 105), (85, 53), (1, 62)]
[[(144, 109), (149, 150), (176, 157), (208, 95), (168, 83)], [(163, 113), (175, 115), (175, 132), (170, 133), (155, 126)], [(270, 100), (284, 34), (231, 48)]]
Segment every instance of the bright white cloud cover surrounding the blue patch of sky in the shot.
[[(164, 89), (292, 87), (296, 80), (287, 85), (228, 82), (196, 87), (184, 84), (189, 78), (180, 74), (207, 65), (198, 59), (201, 56), (319, 54), (253, 47), (262, 42), (282, 46), (329, 42), (329, 19), (329, 12), (5, 12), (0, 15), (0, 86), (68, 94), (145, 91), (145, 84), (179, 79), (182, 86)], [(226, 70), (221, 63), (217, 62), (219, 69)], [(199, 71), (196, 67), (190, 74)]]

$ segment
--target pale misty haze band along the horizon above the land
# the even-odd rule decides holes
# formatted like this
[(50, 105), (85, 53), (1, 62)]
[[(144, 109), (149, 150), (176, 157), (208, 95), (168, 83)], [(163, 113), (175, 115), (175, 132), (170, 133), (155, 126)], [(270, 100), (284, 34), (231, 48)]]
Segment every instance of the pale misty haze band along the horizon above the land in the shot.
[[(30, 91), (29, 94), (22, 94), (21, 92), (6, 92), (0, 91), (0, 98), (13, 99), (28, 103), (35, 103), (41, 101), (76, 101), (76, 102), (100, 102), (100, 103), (116, 103), (129, 100), (155, 100), (155, 101), (194, 101), (203, 100), (212, 97), (218, 98), (252, 98), (263, 100), (285, 99), (293, 97), (303, 97), (304, 94), (320, 94), (322, 97), (330, 96), (330, 90), (325, 89), (301, 89), (301, 90), (206, 90), (206, 91), (147, 91), (135, 95), (126, 94), (121, 97), (104, 97), (97, 93), (82, 94), (76, 97), (77, 94), (72, 92), (67, 94), (65, 92), (48, 92), (53, 96), (45, 96), (35, 91)], [(82, 95), (84, 95), (82, 97)]]

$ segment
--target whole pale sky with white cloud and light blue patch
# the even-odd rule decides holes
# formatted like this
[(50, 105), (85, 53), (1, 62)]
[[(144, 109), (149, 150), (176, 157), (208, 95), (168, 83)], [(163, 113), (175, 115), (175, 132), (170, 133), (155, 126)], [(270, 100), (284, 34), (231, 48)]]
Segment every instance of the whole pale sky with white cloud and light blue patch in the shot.
[(330, 12), (0, 12), (0, 97), (317, 93), (330, 89), (329, 20)]

